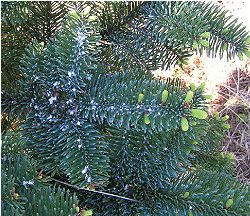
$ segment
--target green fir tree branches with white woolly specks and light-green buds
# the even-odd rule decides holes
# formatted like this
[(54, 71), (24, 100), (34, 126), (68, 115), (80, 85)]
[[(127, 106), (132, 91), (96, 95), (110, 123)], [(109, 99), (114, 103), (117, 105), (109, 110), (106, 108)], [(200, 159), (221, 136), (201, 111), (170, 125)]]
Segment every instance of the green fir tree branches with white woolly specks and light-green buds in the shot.
[[(25, 15), (20, 4), (2, 5), (15, 36), (22, 22), (8, 11), (34, 30), (2, 71), (22, 77), (1, 94), (11, 122), (2, 215), (249, 214), (249, 187), (220, 153), (227, 117), (208, 112), (205, 83), (152, 75), (194, 53), (250, 57), (242, 24), (204, 2), (45, 2), (57, 23), (45, 31), (41, 3), (23, 3)], [(6, 32), (2, 45), (13, 40)]]

